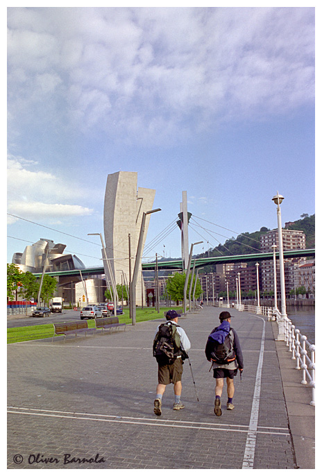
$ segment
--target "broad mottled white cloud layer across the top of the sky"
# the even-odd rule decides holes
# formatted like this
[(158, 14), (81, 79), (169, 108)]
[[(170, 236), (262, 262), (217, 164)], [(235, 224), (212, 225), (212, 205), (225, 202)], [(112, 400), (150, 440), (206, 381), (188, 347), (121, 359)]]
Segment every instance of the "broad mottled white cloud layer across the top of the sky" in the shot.
[(314, 8), (8, 8), (8, 95), (150, 142), (282, 114), (314, 101)]

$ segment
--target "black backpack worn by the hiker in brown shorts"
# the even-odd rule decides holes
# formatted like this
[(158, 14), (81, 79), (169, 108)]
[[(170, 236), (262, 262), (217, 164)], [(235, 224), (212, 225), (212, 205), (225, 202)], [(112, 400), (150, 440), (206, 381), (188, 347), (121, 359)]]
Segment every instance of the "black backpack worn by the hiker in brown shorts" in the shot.
[(183, 357), (177, 327), (179, 326), (170, 322), (160, 325), (153, 341), (153, 357), (157, 362), (171, 364), (178, 356)]

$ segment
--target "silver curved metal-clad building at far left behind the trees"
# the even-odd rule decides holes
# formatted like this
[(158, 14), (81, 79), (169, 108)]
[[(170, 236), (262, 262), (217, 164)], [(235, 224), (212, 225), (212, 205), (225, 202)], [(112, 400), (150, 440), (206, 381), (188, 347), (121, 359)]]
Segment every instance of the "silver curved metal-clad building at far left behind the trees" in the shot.
[(65, 248), (66, 245), (54, 244), (51, 239), (41, 238), (37, 243), (26, 246), (24, 253), (14, 253), (12, 263), (17, 264), (24, 273), (42, 273), (45, 260), (46, 272), (84, 269), (85, 265), (76, 255), (63, 253)]

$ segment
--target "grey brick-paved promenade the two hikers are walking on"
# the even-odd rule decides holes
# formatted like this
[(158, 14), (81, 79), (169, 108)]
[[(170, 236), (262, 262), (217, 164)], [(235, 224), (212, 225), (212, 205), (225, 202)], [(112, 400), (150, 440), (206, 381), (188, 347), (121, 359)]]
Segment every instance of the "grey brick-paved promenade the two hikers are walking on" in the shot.
[[(235, 378), (235, 409), (214, 415), (207, 335), (222, 309), (179, 319), (192, 349), (182, 401), (173, 386), (153, 413), (158, 324), (126, 331), (8, 345), (8, 468), (13, 469), (295, 469), (314, 468), (314, 407), (300, 384), (276, 323), (231, 309), (244, 354)], [(283, 366), (282, 373), (280, 365)], [(282, 383), (283, 380), (283, 383)]]

